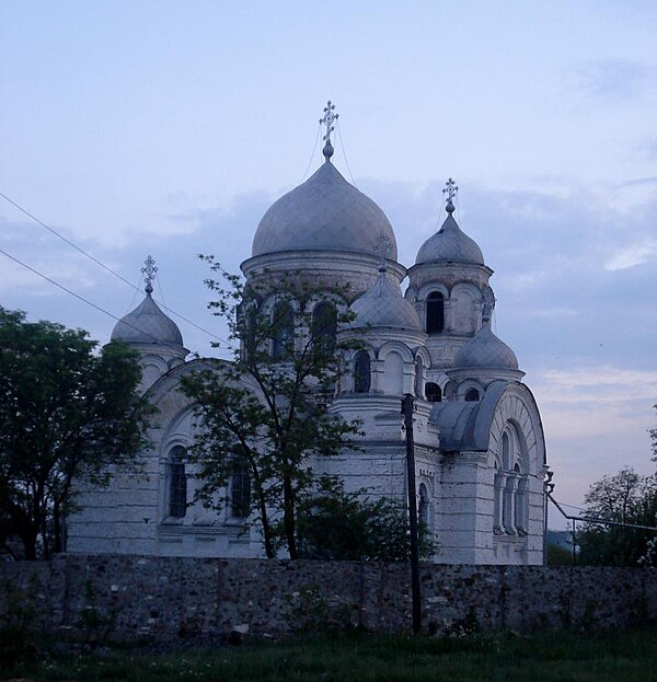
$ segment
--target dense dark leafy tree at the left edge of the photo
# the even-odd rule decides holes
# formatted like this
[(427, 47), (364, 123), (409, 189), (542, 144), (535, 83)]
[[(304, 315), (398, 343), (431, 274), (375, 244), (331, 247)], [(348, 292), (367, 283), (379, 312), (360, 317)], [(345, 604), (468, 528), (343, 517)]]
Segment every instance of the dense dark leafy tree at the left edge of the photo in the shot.
[(140, 369), (120, 344), (0, 308), (0, 512), (25, 557), (61, 551), (73, 481), (104, 485), (145, 444)]

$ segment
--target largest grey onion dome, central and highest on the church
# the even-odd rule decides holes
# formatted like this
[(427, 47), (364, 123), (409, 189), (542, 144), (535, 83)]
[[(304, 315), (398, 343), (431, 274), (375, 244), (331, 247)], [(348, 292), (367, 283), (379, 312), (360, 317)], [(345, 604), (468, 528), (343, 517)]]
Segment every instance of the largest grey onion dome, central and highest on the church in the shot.
[(303, 184), (275, 201), (253, 238), (253, 256), (281, 251), (351, 251), (371, 255), (383, 234), (396, 243), (385, 213), (326, 160)]

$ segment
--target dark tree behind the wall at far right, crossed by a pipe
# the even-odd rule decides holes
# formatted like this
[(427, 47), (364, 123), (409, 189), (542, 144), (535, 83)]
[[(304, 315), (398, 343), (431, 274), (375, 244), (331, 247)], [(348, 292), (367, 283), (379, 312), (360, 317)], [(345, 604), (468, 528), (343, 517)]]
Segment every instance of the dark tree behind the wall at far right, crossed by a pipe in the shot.
[[(655, 525), (657, 479), (624, 467), (593, 483), (585, 497), (585, 516), (636, 525)], [(654, 531), (587, 522), (577, 533), (581, 564), (633, 566), (646, 556)], [(645, 562), (644, 562), (645, 563)]]

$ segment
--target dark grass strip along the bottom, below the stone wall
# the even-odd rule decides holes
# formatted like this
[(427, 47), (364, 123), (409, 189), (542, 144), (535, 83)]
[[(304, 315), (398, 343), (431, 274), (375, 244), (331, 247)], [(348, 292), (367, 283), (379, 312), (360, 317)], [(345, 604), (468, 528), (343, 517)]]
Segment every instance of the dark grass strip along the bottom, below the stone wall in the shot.
[(657, 681), (657, 626), (619, 633), (470, 635), (460, 638), (369, 635), (186, 649), (166, 655), (114, 649), (45, 655), (1, 680), (22, 681), (303, 681), (488, 680)]

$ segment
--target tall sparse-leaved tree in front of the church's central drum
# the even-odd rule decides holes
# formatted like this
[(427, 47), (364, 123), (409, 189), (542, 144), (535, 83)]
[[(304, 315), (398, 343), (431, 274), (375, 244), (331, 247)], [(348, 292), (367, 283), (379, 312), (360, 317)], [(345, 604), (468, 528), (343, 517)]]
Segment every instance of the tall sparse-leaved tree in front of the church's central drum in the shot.
[(211, 310), (228, 323), (233, 361), (182, 380), (195, 402), (196, 499), (222, 508), (231, 477), (246, 470), (267, 557), (284, 544), (298, 558), (298, 509), (318, 485), (312, 460), (354, 448), (358, 432), (327, 411), (346, 348), (336, 328), (353, 316), (344, 291), (291, 276), (244, 285), (205, 259), (220, 276), (206, 284), (217, 296)]

